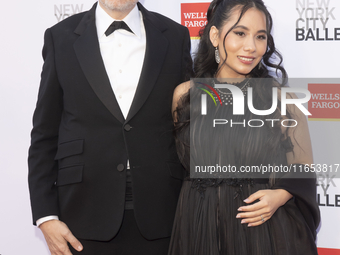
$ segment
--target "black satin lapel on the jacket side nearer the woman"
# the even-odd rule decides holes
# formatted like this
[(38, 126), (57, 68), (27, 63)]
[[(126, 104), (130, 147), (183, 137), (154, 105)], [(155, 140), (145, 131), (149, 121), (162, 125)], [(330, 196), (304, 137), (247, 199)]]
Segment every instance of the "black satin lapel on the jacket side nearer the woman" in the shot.
[(168, 48), (168, 40), (163, 35), (166, 27), (162, 26), (162, 22), (141, 4), (138, 3), (138, 7), (143, 14), (146, 50), (137, 90), (125, 122), (128, 122), (139, 111), (151, 93), (162, 70)]

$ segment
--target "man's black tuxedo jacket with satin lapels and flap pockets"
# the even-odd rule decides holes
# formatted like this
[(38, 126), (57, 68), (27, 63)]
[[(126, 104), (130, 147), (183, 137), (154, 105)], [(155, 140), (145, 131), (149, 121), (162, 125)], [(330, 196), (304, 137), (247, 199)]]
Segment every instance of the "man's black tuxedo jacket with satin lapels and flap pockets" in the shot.
[(191, 67), (190, 37), (187, 28), (138, 7), (146, 52), (126, 119), (100, 54), (96, 4), (45, 32), (28, 158), (34, 223), (58, 215), (78, 238), (113, 238), (124, 214), (129, 159), (142, 235), (171, 234), (183, 179), (171, 104)]

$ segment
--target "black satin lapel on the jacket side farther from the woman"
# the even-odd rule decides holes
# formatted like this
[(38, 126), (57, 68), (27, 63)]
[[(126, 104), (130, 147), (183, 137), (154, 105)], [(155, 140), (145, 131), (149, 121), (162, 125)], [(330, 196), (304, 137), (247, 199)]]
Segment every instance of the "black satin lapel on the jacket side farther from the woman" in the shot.
[(113, 116), (121, 123), (124, 123), (124, 116), (112, 91), (110, 80), (105, 71), (104, 62), (100, 54), (95, 24), (95, 8), (96, 5), (84, 16), (75, 30), (79, 38), (73, 47), (86, 79), (95, 94)]

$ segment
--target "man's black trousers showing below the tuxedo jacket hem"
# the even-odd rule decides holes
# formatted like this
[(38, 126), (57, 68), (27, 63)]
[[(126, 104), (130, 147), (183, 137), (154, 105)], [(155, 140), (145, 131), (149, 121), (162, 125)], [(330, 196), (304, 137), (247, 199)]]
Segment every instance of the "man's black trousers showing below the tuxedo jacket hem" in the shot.
[(122, 226), (110, 241), (79, 241), (83, 250), (77, 252), (69, 245), (74, 255), (167, 255), (170, 237), (146, 240), (137, 227), (133, 210), (125, 210)]

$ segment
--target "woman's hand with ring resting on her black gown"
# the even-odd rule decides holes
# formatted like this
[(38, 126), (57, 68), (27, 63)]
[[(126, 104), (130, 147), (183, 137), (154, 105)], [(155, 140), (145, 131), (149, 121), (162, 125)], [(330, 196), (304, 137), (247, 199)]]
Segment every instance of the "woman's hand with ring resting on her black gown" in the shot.
[(293, 196), (284, 189), (259, 190), (250, 195), (244, 202), (250, 204), (257, 199), (260, 201), (238, 208), (238, 211), (241, 213), (238, 213), (236, 218), (242, 219), (241, 224), (248, 223), (248, 227), (259, 226), (269, 220), (276, 210), (292, 197)]

